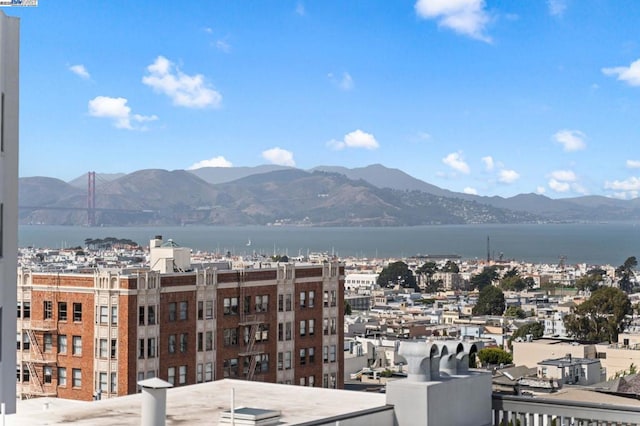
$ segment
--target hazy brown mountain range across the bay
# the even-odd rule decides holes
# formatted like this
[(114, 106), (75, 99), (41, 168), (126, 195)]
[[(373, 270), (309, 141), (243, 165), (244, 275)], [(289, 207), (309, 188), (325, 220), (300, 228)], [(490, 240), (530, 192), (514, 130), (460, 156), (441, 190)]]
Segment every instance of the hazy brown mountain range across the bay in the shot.
[[(97, 225), (412, 226), (640, 219), (640, 199), (457, 193), (375, 164), (96, 174)], [(20, 223), (86, 225), (88, 181), (20, 178)]]

